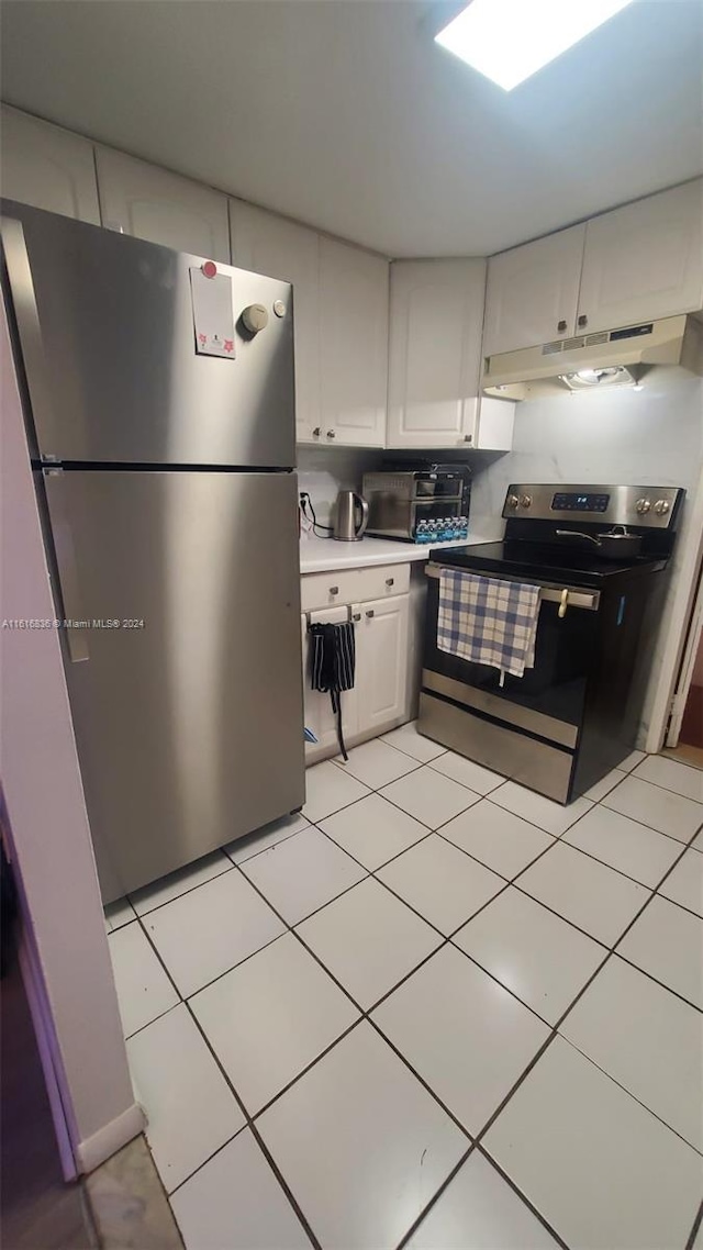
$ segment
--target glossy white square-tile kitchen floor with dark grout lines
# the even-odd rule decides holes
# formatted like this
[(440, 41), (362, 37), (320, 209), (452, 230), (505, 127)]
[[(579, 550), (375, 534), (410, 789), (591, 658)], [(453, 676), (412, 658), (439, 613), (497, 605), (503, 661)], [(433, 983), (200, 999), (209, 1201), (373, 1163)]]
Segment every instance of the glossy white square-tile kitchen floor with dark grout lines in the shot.
[(562, 808), (405, 725), (108, 909), (186, 1250), (700, 1250), (703, 772)]

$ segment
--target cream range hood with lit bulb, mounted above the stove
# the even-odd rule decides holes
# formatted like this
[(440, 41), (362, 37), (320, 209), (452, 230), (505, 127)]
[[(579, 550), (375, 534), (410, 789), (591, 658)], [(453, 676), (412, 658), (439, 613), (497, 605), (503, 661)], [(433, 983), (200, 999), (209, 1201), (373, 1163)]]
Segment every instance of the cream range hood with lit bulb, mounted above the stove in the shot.
[(703, 374), (703, 325), (693, 316), (669, 316), (504, 351), (484, 366), (482, 390), (498, 399), (633, 386), (654, 366)]

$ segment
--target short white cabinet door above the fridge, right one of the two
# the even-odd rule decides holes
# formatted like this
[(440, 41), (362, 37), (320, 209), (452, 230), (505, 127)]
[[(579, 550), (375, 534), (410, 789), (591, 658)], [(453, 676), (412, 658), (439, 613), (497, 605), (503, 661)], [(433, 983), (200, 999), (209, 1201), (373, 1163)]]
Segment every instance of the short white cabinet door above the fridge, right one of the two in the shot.
[(229, 264), (226, 195), (111, 148), (98, 148), (95, 158), (110, 230)]

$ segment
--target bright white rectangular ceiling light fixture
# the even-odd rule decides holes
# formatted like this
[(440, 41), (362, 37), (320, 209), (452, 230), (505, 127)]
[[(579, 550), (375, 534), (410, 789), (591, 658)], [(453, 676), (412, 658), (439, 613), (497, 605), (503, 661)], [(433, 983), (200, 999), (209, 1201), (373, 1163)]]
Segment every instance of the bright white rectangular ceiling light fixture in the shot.
[(435, 42), (512, 91), (628, 4), (632, 0), (473, 0)]

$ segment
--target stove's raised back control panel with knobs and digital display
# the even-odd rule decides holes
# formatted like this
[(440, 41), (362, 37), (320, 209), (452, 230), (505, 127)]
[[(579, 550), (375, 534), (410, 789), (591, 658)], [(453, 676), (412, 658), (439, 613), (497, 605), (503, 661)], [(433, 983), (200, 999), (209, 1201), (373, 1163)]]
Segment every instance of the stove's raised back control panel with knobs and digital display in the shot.
[(520, 520), (580, 521), (669, 529), (684, 491), (680, 486), (572, 486), (562, 482), (508, 486), (503, 516)]

